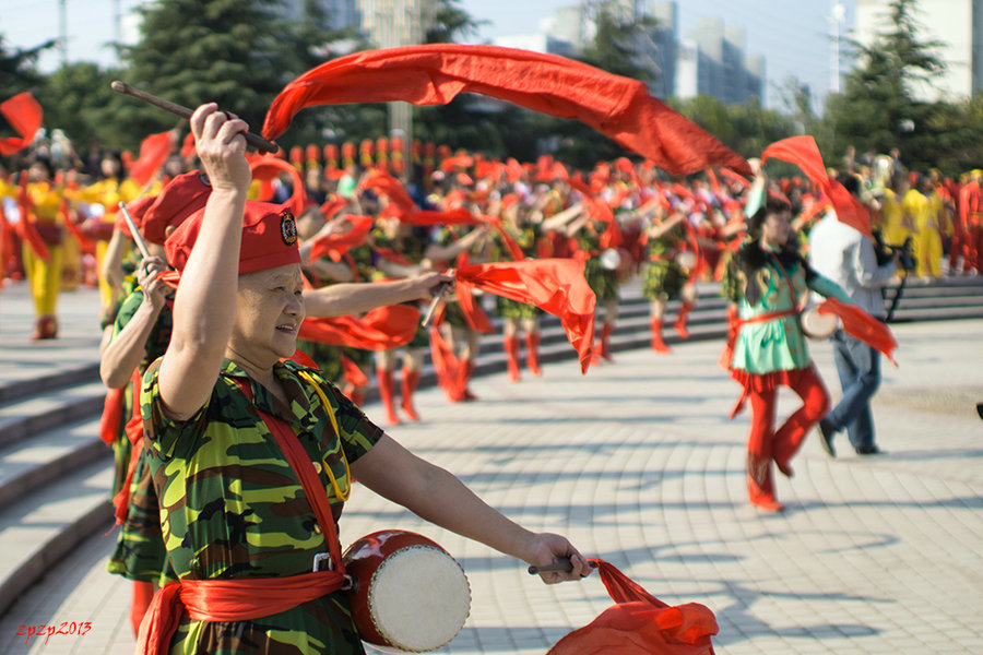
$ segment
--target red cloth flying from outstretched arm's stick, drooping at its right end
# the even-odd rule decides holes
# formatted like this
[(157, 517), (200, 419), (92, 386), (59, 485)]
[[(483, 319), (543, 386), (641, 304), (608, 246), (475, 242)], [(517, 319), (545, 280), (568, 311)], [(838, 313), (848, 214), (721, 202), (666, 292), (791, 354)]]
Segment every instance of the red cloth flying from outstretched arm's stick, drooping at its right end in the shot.
[(593, 355), (594, 310), (597, 298), (583, 277), (583, 262), (572, 259), (523, 260), (478, 264), (457, 272), (459, 294), (473, 286), (489, 294), (532, 302), (559, 317), (587, 372)]

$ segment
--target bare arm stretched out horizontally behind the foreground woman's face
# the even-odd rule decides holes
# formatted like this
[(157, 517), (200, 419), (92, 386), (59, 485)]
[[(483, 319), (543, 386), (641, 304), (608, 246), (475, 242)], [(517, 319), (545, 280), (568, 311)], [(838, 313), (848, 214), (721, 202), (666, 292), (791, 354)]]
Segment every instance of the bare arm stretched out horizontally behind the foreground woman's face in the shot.
[(407, 300), (425, 300), (437, 285), (445, 282), (453, 282), (453, 278), (439, 273), (425, 273), (419, 277), (392, 282), (333, 284), (305, 290), (304, 307), (309, 317), (343, 317)]

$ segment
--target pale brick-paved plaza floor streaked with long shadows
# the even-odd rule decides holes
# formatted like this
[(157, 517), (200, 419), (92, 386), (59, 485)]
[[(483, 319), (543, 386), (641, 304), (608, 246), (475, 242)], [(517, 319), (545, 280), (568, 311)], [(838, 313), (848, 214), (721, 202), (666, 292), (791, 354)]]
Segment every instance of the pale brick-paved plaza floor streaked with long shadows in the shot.
[[(10, 297), (0, 295), (0, 342), (4, 353), (31, 349), (26, 330), (2, 320)], [(84, 315), (79, 298), (68, 302)], [(716, 366), (719, 342), (616, 353), (587, 376), (569, 360), (519, 383), (483, 377), (476, 403), (450, 405), (424, 390), (424, 420), (389, 433), (523, 525), (567, 535), (670, 604), (710, 607), (721, 655), (981, 653), (983, 321), (892, 329), (899, 367), (885, 362), (874, 405), (887, 454), (854, 455), (841, 436), (831, 460), (810, 436), (794, 478), (778, 481), (786, 505), (778, 515), (747, 502), (748, 417), (726, 418), (738, 388)], [(67, 334), (64, 347), (40, 347), (91, 360), (94, 341), (78, 327)], [(812, 342), (812, 350), (836, 400), (831, 348)], [(25, 350), (23, 360), (38, 359)], [(12, 376), (4, 366), (3, 380)], [(791, 407), (782, 395), (780, 420)], [(367, 412), (381, 418), (377, 404)], [(108, 469), (94, 484), (108, 487)], [(366, 489), (356, 487), (341, 525), (343, 543), (399, 527), (459, 559), (471, 616), (442, 653), (542, 655), (612, 604), (596, 576), (544, 585), (523, 562)], [(115, 533), (99, 532), (52, 564), (0, 620), (0, 653), (131, 653), (130, 583), (105, 572), (114, 544)], [(62, 621), (92, 630), (47, 644), (14, 636), (21, 623)]]

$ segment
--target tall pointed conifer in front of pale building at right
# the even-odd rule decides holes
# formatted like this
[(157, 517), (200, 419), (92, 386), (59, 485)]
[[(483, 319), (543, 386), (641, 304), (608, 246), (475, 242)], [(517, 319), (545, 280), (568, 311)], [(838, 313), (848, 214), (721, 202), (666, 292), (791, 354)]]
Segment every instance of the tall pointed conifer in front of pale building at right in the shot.
[(827, 100), (828, 148), (843, 153), (888, 152), (899, 147), (912, 166), (932, 163), (938, 134), (937, 105), (915, 99), (915, 90), (944, 70), (936, 40), (921, 39), (915, 0), (891, 0), (886, 27), (865, 46), (854, 43), (858, 66), (846, 76), (845, 91)]

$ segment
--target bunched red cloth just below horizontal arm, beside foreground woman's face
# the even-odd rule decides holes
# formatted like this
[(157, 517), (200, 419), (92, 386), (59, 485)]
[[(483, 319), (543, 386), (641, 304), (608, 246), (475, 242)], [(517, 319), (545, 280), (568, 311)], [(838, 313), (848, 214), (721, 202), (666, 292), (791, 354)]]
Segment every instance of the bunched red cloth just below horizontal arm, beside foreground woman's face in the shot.
[(419, 310), (408, 305), (379, 307), (364, 318), (307, 318), (298, 336), (332, 346), (364, 350), (391, 350), (405, 346), (416, 334)]

